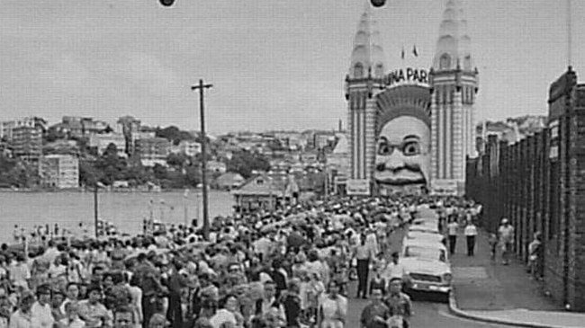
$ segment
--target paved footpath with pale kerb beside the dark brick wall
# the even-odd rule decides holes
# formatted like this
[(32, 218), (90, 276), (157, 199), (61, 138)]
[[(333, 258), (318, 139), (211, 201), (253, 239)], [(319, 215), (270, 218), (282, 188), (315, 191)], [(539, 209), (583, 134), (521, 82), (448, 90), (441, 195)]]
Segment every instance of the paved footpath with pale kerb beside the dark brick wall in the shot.
[(474, 256), (467, 256), (466, 246), (464, 235), (459, 235), (451, 257), (455, 299), (450, 306), (455, 315), (500, 324), (583, 327), (585, 315), (568, 313), (545, 297), (526, 265), (518, 260), (502, 265), (500, 253), (492, 261), (487, 233), (480, 231)]

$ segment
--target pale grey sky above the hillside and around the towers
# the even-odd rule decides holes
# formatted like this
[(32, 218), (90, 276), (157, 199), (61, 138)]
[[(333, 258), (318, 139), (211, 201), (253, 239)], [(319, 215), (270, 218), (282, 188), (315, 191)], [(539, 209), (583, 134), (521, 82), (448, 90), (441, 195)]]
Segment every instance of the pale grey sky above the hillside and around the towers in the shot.
[[(432, 63), (446, 0), (373, 9), (388, 70), (416, 44)], [(0, 120), (64, 115), (211, 133), (337, 129), (365, 0), (2, 0)], [(480, 71), (476, 119), (545, 115), (567, 61), (565, 0), (464, 0)], [(573, 0), (572, 66), (585, 74), (585, 2)], [(580, 78), (585, 81), (585, 78)]]

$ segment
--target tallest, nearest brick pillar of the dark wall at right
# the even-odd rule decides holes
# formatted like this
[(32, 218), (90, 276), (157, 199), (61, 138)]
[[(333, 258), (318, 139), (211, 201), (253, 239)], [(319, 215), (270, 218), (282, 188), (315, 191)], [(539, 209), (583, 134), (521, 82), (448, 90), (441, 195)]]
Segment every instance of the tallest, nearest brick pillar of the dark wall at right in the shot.
[[(581, 149), (576, 146), (580, 137), (579, 115), (573, 110), (575, 103), (579, 103), (577, 94), (577, 75), (569, 67), (569, 70), (551, 84), (549, 89), (549, 129), (551, 129), (551, 227), (553, 243), (547, 245), (547, 255), (555, 255), (556, 260), (551, 259), (546, 269), (551, 271), (550, 277), (545, 275), (547, 285), (554, 288), (554, 296), (563, 303), (570, 304), (573, 308), (585, 307), (577, 304), (575, 281), (578, 276), (576, 252), (581, 248), (576, 247), (576, 223), (577, 204), (582, 202), (580, 186), (576, 179), (581, 176), (578, 172)], [(583, 135), (582, 137), (585, 137)], [(558, 149), (558, 151), (557, 151)], [(558, 155), (557, 155), (558, 154)], [(558, 181), (558, 188), (555, 182)], [(557, 192), (558, 191), (558, 192)], [(558, 196), (554, 196), (558, 194)], [(585, 194), (583, 194), (585, 196)], [(556, 204), (558, 199), (558, 206)], [(551, 242), (550, 240), (548, 241)], [(556, 243), (555, 243), (556, 242)], [(554, 252), (556, 248), (556, 252)], [(548, 262), (548, 261), (547, 261)], [(581, 273), (581, 272), (579, 272)], [(554, 277), (557, 277), (556, 279)], [(560, 277), (560, 278), (559, 278)], [(559, 286), (561, 285), (561, 286)], [(560, 290), (559, 290), (560, 289)]]

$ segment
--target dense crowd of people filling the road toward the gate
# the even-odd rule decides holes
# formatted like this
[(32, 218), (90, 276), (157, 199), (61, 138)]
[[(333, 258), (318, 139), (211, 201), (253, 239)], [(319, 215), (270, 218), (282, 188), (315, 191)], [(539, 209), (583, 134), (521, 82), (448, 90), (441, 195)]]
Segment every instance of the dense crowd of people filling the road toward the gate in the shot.
[[(441, 206), (469, 206), (462, 201)], [(25, 250), (3, 244), (0, 328), (342, 328), (350, 279), (356, 297), (374, 302), (365, 327), (408, 318), (390, 236), (424, 202), (437, 199), (332, 198), (216, 217), (209, 241), (193, 226), (169, 226)]]

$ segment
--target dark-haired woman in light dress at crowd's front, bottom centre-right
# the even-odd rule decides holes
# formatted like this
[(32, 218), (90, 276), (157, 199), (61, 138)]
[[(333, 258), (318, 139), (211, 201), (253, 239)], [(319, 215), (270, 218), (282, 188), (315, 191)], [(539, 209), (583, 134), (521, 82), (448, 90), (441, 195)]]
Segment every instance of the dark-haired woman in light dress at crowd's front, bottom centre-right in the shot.
[(343, 328), (346, 324), (347, 298), (339, 295), (339, 284), (329, 281), (329, 291), (320, 302), (320, 328)]

